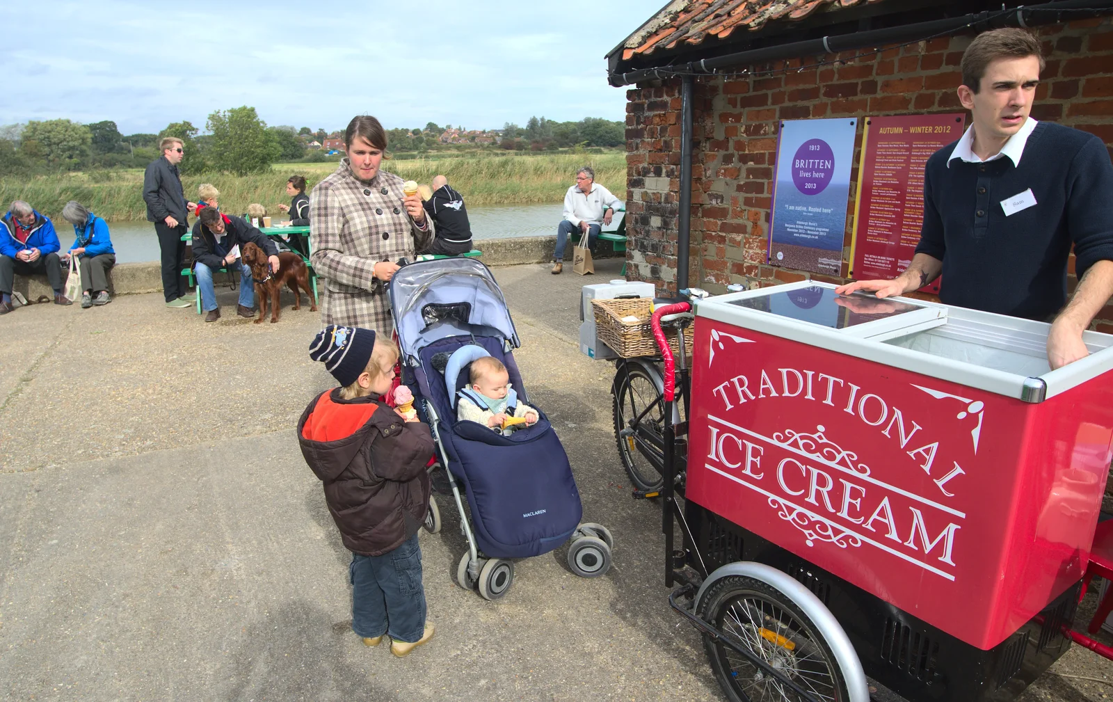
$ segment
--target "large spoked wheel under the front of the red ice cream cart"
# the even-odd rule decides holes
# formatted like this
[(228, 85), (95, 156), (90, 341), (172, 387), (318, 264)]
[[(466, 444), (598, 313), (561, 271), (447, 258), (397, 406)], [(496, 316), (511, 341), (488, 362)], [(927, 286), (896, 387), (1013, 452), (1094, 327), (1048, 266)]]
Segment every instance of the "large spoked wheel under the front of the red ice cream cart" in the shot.
[[(717, 581), (698, 604), (697, 614), (743, 645), (811, 696), (846, 702), (841, 670), (818, 627), (776, 587), (730, 575)], [(731, 702), (795, 702), (802, 698), (766, 674), (735, 649), (703, 636), (711, 671)]]

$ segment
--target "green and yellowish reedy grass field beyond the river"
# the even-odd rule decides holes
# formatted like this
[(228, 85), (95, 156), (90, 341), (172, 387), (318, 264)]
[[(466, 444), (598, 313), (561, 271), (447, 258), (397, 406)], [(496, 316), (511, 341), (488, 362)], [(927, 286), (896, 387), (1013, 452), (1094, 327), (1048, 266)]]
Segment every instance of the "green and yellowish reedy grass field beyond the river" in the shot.
[[(384, 161), (383, 170), (426, 184), (433, 176), (444, 175), (469, 206), (530, 205), (560, 202), (581, 166), (591, 166), (595, 179), (610, 190), (626, 190), (626, 155), (621, 151), (400, 159)], [(287, 178), (303, 175), (312, 189), (335, 169), (336, 164), (276, 164), (268, 174), (201, 174), (186, 176), (183, 185), (186, 198), (196, 200), (197, 186), (211, 182), (220, 190), (220, 209), (227, 212), (244, 212), (249, 204), (259, 202), (268, 214), (279, 216), (277, 205), (289, 202)], [(77, 200), (107, 221), (142, 220), (142, 170), (127, 169), (0, 178), (0, 204), (7, 210), (12, 200), (27, 200), (40, 212), (58, 218), (67, 201)]]

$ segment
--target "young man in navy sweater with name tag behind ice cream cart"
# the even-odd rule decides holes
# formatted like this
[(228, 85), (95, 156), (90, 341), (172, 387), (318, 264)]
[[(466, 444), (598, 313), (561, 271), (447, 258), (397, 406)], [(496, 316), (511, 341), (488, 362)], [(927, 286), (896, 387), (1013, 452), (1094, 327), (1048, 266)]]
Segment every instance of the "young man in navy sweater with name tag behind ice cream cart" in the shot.
[[(893, 297), (942, 274), (947, 305), (1051, 322), (1052, 368), (1089, 355), (1082, 333), (1113, 295), (1113, 165), (1097, 137), (1028, 117), (1043, 67), (1040, 42), (1020, 29), (971, 43), (958, 99), (973, 123), (927, 161), (912, 264), (837, 293)], [(1072, 246), (1078, 286), (1067, 304)]]

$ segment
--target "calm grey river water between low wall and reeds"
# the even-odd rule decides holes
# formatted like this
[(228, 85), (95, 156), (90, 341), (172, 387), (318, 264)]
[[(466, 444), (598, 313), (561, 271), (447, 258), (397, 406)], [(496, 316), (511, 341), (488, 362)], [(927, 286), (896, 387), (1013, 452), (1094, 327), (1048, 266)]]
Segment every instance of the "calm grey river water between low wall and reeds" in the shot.
[[(467, 217), (472, 224), (472, 236), (477, 241), (540, 237), (556, 234), (562, 209), (561, 205), (469, 207)], [(60, 227), (58, 223), (55, 223), (55, 226), (58, 227), (58, 238), (61, 239), (62, 248), (69, 248), (73, 241), (73, 236), (70, 234), (72, 227), (69, 225)], [(108, 225), (108, 228), (112, 237), (112, 248), (116, 249), (116, 263), (131, 264), (159, 259), (155, 225), (148, 221), (118, 221)]]

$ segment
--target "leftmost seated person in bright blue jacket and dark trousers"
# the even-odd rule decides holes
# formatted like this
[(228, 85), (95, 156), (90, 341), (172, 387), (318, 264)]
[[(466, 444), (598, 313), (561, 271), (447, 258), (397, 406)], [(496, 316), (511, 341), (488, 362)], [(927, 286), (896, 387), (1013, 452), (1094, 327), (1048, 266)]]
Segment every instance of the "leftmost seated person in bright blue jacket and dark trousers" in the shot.
[(0, 218), (0, 315), (14, 309), (11, 290), (17, 273), (21, 276), (47, 274), (55, 290), (55, 305), (72, 305), (62, 295), (65, 280), (58, 258), (61, 244), (50, 220), (23, 200), (16, 200)]

